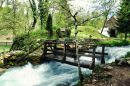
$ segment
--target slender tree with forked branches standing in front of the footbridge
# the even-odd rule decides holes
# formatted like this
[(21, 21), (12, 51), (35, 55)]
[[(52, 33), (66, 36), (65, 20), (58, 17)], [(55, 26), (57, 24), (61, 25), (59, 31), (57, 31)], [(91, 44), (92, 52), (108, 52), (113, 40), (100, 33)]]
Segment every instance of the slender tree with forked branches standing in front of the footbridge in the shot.
[[(65, 1), (67, 2), (68, 0), (65, 0)], [(86, 19), (86, 20), (84, 20), (82, 22), (78, 22), (77, 15), (78, 15), (79, 12), (81, 12), (81, 8), (78, 9), (76, 12), (74, 12), (74, 11), (70, 10), (69, 8), (66, 8), (63, 3), (59, 3), (57, 1), (55, 1), (55, 3), (57, 3), (60, 7), (62, 7), (64, 9), (64, 11), (66, 11), (69, 14), (67, 18), (73, 18), (73, 20), (74, 20), (74, 26), (75, 26), (75, 43), (76, 43), (76, 58), (78, 60), (79, 78), (80, 78), (80, 82), (82, 84), (82, 82), (83, 82), (83, 75), (82, 75), (81, 68), (80, 68), (80, 60), (79, 60), (79, 54), (78, 54), (78, 30), (77, 30), (77, 27), (79, 25), (87, 22), (87, 21), (90, 21), (91, 19), (94, 19), (94, 18), (97, 18), (97, 17), (101, 16), (102, 13), (98, 15), (98, 12), (97, 12), (96, 15), (92, 16), (91, 18)], [(66, 5), (68, 5), (68, 4), (66, 4)], [(68, 5), (68, 7), (69, 6), (70, 5)], [(94, 64), (92, 64), (92, 65), (94, 66)]]

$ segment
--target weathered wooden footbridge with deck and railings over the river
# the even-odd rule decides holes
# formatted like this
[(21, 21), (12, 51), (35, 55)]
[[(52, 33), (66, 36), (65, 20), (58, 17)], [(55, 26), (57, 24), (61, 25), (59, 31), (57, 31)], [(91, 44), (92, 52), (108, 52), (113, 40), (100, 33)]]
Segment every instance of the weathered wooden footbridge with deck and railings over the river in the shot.
[[(41, 60), (51, 60), (78, 66), (75, 45), (75, 42), (46, 40), (44, 42), (44, 53), (41, 57)], [(102, 46), (102, 52), (96, 52), (97, 46)], [(92, 51), (90, 51), (90, 49), (92, 49)], [(94, 68), (95, 64), (97, 64), (95, 63), (95, 58), (99, 57), (97, 55), (101, 56), (101, 64), (104, 64), (104, 55), (108, 55), (108, 53), (105, 53), (104, 50), (105, 44), (78, 43), (79, 56), (85, 56), (86, 58), (92, 57), (92, 61), (80, 60), (80, 66), (84, 68)], [(85, 53), (90, 53), (91, 55), (85, 55)]]

